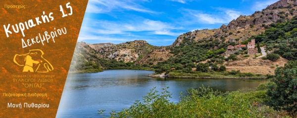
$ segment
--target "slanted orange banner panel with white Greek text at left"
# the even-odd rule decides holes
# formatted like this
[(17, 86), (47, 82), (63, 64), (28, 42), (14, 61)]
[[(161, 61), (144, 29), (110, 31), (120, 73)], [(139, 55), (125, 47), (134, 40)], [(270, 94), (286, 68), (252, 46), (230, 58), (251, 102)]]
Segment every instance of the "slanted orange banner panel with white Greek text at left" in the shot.
[(87, 3), (0, 1), (1, 117), (55, 117)]

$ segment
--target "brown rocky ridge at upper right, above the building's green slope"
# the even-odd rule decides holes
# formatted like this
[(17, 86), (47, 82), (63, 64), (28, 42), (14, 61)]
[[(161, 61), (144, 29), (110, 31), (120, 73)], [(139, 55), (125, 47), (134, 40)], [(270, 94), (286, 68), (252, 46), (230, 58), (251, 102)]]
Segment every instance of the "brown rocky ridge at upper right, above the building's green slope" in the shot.
[(228, 25), (222, 25), (219, 29), (213, 30), (196, 30), (179, 36), (171, 46), (178, 46), (183, 38), (194, 38), (196, 41), (207, 40), (210, 38), (217, 39), (224, 37), (224, 42), (245, 41), (251, 36), (265, 32), (265, 27), (271, 23), (285, 22), (297, 14), (297, 1), (279, 0), (262, 11), (255, 11), (252, 15), (241, 15), (232, 20)]

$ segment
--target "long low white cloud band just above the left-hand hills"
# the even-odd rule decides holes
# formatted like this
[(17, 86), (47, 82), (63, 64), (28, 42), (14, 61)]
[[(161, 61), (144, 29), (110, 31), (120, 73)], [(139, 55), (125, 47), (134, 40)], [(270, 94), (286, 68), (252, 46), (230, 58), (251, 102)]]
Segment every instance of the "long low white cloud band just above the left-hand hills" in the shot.
[(180, 33), (173, 33), (172, 30), (180, 30), (181, 27), (174, 27), (161, 21), (153, 21), (149, 19), (137, 19), (131, 21), (103, 21), (86, 19), (86, 22), (92, 24), (83, 24), (82, 33), (95, 34), (129, 34), (129, 32), (148, 32), (156, 35), (178, 36)]

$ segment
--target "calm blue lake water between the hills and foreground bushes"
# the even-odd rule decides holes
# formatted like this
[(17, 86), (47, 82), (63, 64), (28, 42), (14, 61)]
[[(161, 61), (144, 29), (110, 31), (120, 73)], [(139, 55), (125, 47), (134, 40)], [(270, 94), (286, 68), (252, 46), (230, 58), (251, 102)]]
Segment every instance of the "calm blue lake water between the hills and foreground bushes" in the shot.
[(105, 117), (111, 110), (121, 111), (129, 108), (135, 100), (152, 87), (161, 91), (169, 86), (171, 101), (180, 100), (180, 92), (187, 88), (209, 86), (219, 91), (236, 91), (243, 87), (254, 88), (266, 80), (235, 79), (157, 79), (147, 77), (153, 71), (107, 70), (101, 73), (69, 74), (65, 83), (56, 118), (101, 118), (99, 109), (106, 110)]

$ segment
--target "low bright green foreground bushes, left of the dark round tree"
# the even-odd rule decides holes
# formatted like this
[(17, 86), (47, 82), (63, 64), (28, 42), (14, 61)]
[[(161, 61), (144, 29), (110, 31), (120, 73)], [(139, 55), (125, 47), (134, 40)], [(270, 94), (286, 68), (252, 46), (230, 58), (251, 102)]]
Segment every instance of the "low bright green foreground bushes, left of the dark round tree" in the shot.
[[(259, 90), (236, 91), (222, 93), (204, 86), (199, 89), (188, 89), (189, 94), (183, 96), (179, 103), (170, 102), (169, 87), (163, 88), (161, 94), (155, 87), (143, 97), (143, 101), (135, 101), (128, 109), (110, 113), (111, 118), (271, 118), (284, 117), (263, 105), (267, 98), (263, 85)], [(99, 110), (102, 114), (104, 110)], [(104, 115), (102, 115), (104, 117)], [(287, 118), (288, 116), (286, 116)]]

